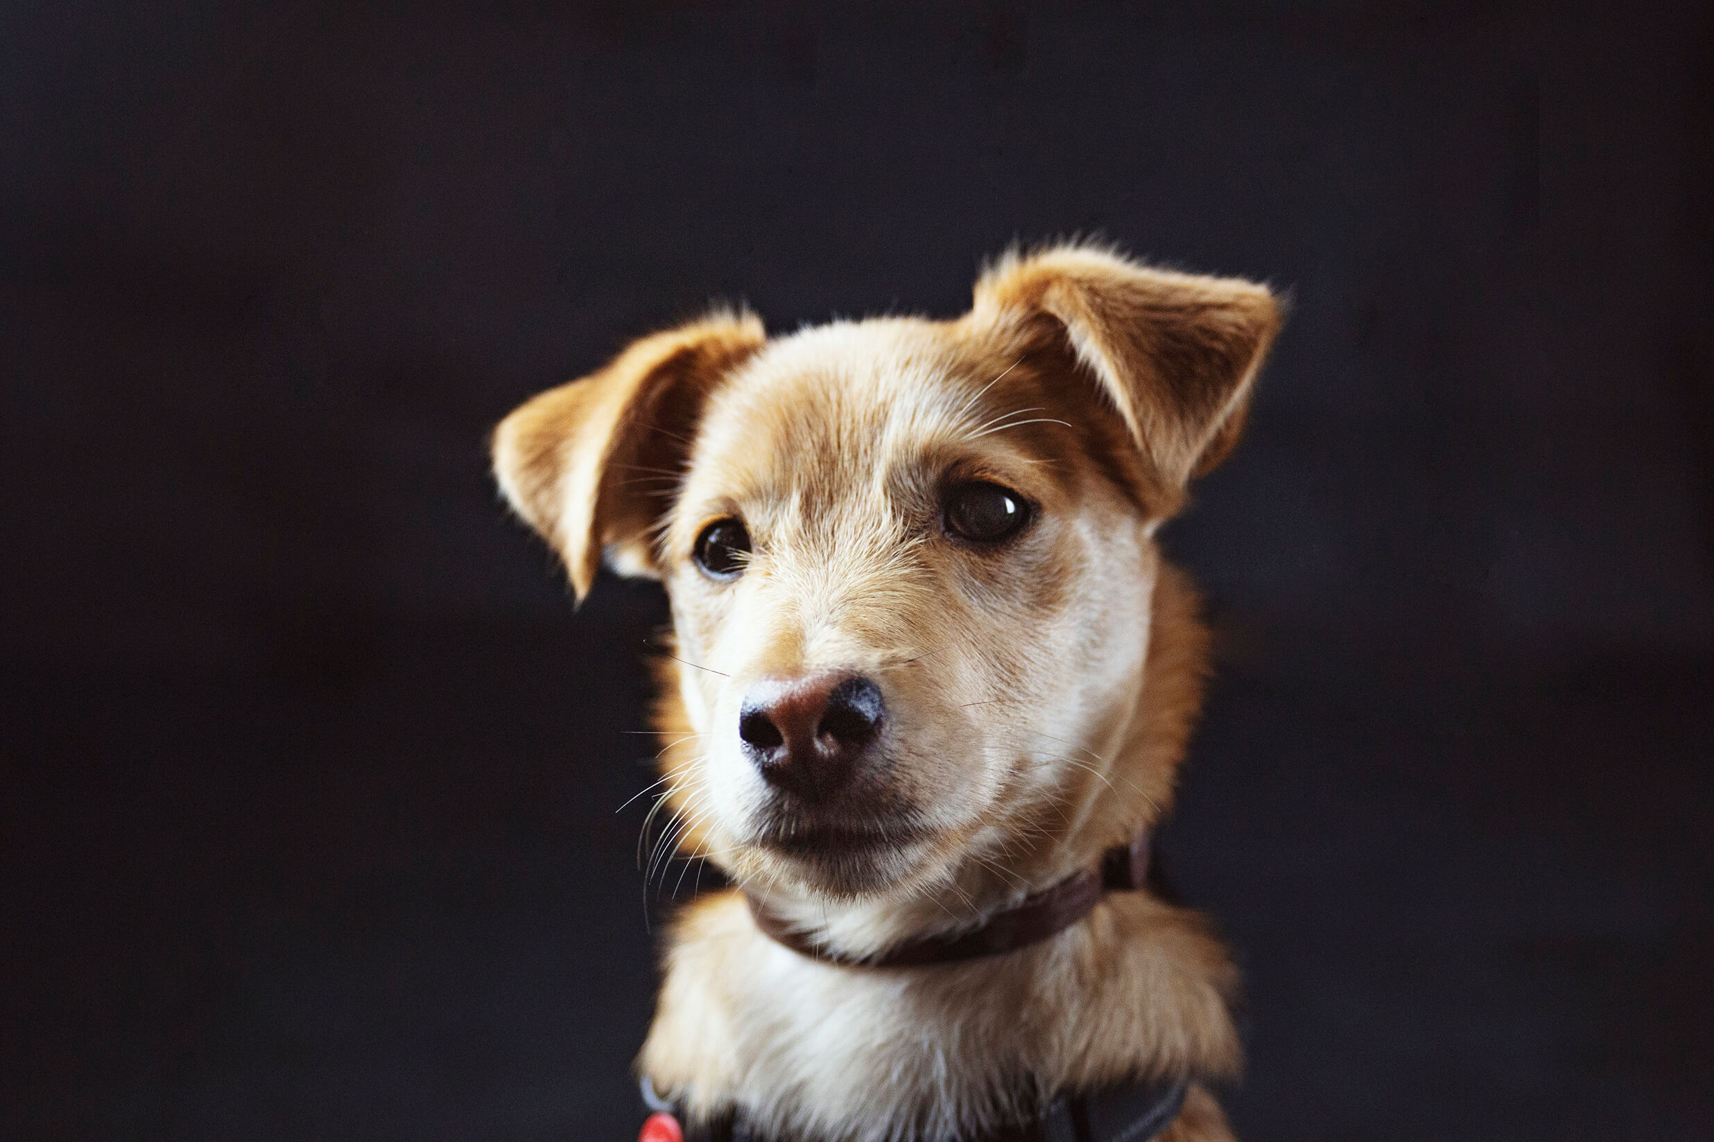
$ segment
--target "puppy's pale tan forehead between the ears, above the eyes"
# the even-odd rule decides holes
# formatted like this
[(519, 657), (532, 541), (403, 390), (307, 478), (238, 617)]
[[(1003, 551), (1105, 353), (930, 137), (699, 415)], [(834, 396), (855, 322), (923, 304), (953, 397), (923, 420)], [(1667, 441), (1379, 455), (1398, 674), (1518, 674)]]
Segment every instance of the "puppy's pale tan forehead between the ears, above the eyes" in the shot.
[(691, 466), (728, 493), (836, 479), (872, 486), (980, 425), (1004, 368), (914, 318), (838, 322), (770, 342), (713, 396)]

